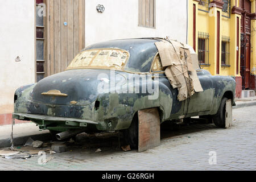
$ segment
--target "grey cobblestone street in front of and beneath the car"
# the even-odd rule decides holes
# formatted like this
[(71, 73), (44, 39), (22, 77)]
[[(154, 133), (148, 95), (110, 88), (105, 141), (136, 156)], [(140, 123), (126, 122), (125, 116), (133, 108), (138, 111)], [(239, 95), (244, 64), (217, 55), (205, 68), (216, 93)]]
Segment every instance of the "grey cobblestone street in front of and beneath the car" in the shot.
[[(230, 129), (194, 124), (163, 131), (161, 145), (141, 153), (123, 152), (118, 142), (106, 147), (117, 140), (109, 138), (97, 147), (101, 152), (74, 147), (52, 155), (54, 159), (42, 166), (37, 155), (27, 160), (0, 158), (0, 170), (255, 170), (255, 111), (256, 106), (234, 109)], [(210, 151), (216, 152), (217, 164), (209, 164)]]

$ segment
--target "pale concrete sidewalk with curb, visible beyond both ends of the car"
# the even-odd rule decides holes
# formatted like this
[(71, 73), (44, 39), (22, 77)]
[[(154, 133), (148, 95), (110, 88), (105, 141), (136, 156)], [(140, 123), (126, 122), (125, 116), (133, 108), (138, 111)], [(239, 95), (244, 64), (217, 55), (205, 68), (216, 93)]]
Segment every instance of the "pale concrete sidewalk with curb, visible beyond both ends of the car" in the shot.
[[(251, 100), (253, 99), (253, 100)], [(249, 107), (256, 105), (256, 98), (250, 100), (236, 100), (236, 106), (233, 109), (241, 107)], [(255, 99), (255, 100), (254, 100)], [(11, 125), (0, 126), (0, 148), (11, 146)], [(35, 123), (21, 123), (14, 125), (14, 145), (19, 146), (27, 142), (28, 138), (34, 140), (47, 141), (51, 140), (51, 134), (48, 130), (39, 131), (39, 127)]]

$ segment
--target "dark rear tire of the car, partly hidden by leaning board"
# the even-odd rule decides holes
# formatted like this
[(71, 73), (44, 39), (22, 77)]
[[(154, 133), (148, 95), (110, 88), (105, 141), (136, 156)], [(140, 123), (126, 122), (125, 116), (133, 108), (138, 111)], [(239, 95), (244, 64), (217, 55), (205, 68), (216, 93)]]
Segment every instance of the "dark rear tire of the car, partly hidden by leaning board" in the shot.
[(130, 145), (131, 149), (138, 149), (138, 143), (139, 143), (138, 113), (135, 113), (129, 129), (123, 130), (123, 137), (125, 139), (125, 142)]

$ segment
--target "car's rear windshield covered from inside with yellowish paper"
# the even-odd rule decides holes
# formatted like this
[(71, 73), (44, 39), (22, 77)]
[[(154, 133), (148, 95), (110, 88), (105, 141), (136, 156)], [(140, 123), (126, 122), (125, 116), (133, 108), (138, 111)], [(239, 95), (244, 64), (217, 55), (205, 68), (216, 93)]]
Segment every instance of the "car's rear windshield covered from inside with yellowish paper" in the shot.
[(90, 49), (80, 52), (67, 69), (111, 68), (122, 70), (129, 56), (129, 52), (122, 49)]

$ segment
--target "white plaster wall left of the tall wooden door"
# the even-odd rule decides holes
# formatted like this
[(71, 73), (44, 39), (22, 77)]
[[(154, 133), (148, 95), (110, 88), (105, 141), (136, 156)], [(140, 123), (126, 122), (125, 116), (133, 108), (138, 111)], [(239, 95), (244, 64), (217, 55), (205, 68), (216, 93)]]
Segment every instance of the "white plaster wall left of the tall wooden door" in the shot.
[(35, 82), (35, 7), (34, 0), (0, 5), (0, 114), (7, 114), (13, 112), (15, 90)]

